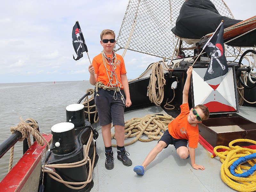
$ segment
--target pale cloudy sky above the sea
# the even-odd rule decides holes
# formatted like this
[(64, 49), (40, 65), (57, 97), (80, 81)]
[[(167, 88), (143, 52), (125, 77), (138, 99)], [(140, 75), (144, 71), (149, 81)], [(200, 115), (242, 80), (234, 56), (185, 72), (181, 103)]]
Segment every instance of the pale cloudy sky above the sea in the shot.
[[(76, 54), (72, 28), (79, 21), (90, 59), (102, 51), (100, 32), (118, 34), (129, 0), (4, 1), (0, 8), (0, 83), (89, 80), (87, 54)], [(225, 0), (235, 19), (255, 15), (255, 0)], [(117, 52), (122, 54), (122, 50)], [(144, 70), (140, 64), (159, 59), (127, 51), (124, 57), (129, 79)]]

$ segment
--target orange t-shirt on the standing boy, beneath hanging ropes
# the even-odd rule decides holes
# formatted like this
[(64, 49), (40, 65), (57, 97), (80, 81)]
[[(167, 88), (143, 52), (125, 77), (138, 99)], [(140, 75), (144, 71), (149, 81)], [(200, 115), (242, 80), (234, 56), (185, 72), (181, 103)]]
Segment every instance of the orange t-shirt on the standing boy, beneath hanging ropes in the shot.
[[(112, 58), (112, 55), (106, 55), (108, 58)], [(109, 71), (106, 70), (103, 59), (102, 59), (102, 54), (100, 53), (99, 55), (95, 56), (92, 60), (92, 66), (94, 67), (95, 74), (98, 75), (97, 81), (102, 82), (104, 85), (109, 86), (109, 79), (108, 76), (110, 77), (110, 65), (108, 63), (108, 60), (106, 61), (106, 67)], [(121, 81), (121, 74), (126, 74), (125, 66), (124, 66), (124, 59), (121, 55), (116, 54), (116, 77), (118, 82), (122, 85)], [(116, 83), (116, 77), (113, 75), (113, 81), (111, 82), (112, 84)], [(116, 87), (120, 87), (120, 84), (117, 84)], [(122, 86), (121, 89), (124, 87)]]

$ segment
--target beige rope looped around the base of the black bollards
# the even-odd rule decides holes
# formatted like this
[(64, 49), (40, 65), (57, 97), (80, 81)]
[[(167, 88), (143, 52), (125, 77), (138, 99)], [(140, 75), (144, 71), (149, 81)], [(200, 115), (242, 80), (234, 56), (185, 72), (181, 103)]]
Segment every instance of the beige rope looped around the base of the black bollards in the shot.
[[(61, 176), (53, 171), (44, 169), (44, 172), (47, 172), (47, 174), (54, 180), (63, 183), (64, 185), (66, 185), (68, 188), (71, 189), (82, 189), (84, 188), (88, 183), (90, 183), (92, 181), (92, 170), (93, 170), (93, 166), (94, 166), (94, 161), (95, 161), (95, 156), (96, 156), (96, 150), (95, 150), (95, 144), (93, 142), (93, 159), (92, 159), (92, 163), (91, 163), (91, 159), (88, 156), (89, 154), (89, 149), (90, 149), (90, 144), (92, 142), (92, 137), (93, 133), (91, 131), (90, 137), (88, 139), (88, 142), (86, 145), (84, 145), (84, 159), (75, 163), (66, 163), (66, 164), (46, 164), (44, 165), (44, 167), (53, 167), (53, 168), (58, 168), (58, 169), (62, 169), (62, 168), (73, 168), (73, 167), (80, 167), (80, 166), (85, 166), (85, 164), (87, 164), (87, 162), (89, 162), (89, 173), (88, 173), (88, 177), (86, 181), (83, 182), (69, 182), (69, 181), (64, 181)], [(43, 171), (43, 170), (42, 170)], [(71, 185), (82, 185), (80, 187), (73, 187)]]

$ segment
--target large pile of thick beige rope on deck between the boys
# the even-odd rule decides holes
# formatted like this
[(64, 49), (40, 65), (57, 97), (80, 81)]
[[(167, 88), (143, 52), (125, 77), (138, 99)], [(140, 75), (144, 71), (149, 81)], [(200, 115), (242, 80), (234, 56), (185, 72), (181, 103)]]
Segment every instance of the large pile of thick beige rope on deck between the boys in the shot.
[[(141, 118), (132, 118), (128, 121), (125, 121), (124, 132), (127, 133), (124, 135), (124, 139), (136, 137), (131, 142), (125, 143), (124, 146), (131, 145), (137, 140), (141, 142), (150, 142), (153, 140), (159, 140), (160, 137), (164, 134), (167, 129), (167, 125), (174, 118), (167, 114), (152, 114), (146, 115)], [(113, 126), (112, 126), (113, 127)], [(142, 134), (148, 135), (148, 139), (141, 139)], [(160, 135), (160, 136), (158, 136)], [(115, 134), (111, 133), (112, 139), (116, 139)], [(112, 147), (116, 147), (115, 144), (112, 144)]]

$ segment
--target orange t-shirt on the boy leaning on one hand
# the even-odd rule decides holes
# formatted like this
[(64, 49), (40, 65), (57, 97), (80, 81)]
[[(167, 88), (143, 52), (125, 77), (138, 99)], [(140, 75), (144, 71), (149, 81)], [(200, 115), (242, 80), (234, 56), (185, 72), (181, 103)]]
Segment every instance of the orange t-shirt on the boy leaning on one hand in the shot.
[(188, 123), (188, 114), (188, 103), (183, 103), (180, 106), (180, 115), (168, 124), (168, 131), (173, 138), (187, 139), (189, 147), (197, 148), (199, 138), (198, 126), (193, 127)]

